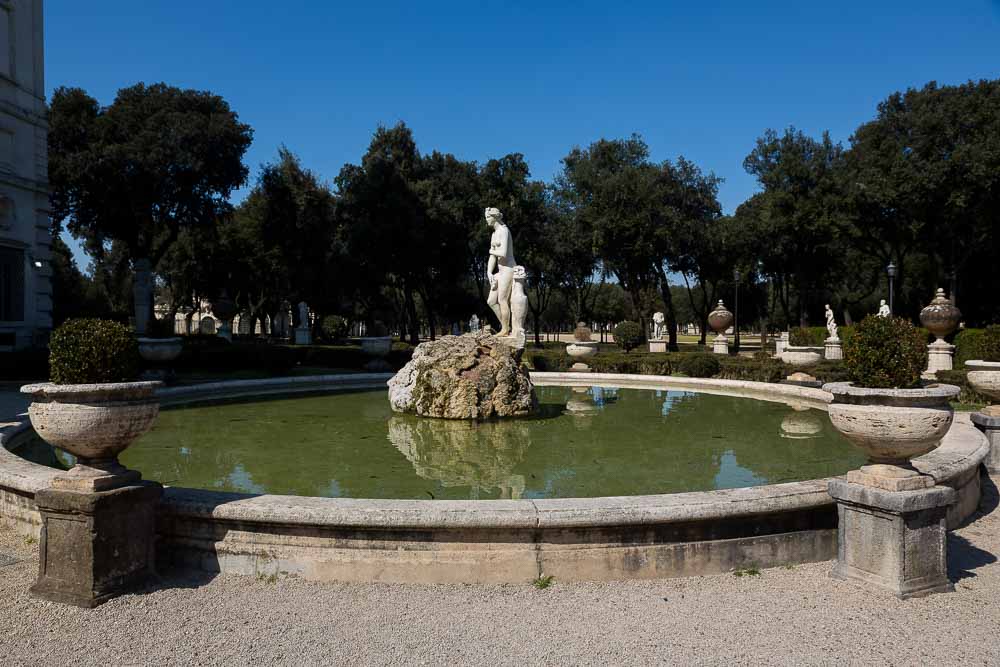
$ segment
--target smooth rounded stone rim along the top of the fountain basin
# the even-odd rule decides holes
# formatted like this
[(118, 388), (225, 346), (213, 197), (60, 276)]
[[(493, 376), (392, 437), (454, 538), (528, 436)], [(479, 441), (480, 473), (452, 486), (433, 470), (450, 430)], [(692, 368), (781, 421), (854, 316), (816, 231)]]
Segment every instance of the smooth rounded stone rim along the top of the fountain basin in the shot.
[[(157, 391), (164, 406), (234, 398), (294, 396), (385, 386), (387, 373), (336, 374), (266, 380), (231, 380)], [(533, 372), (538, 386), (606, 386), (700, 393), (797, 403), (825, 409), (831, 394), (822, 389), (739, 380), (682, 378), (618, 373)], [(27, 415), (0, 427), (0, 492), (28, 495), (49, 485), (57, 471), (21, 459), (9, 450), (31, 431)], [(986, 457), (989, 443), (968, 417), (957, 417), (941, 446), (914, 460), (937, 483), (964, 478)], [(653, 525), (732, 519), (832, 506), (831, 479), (821, 478), (736, 489), (639, 496), (544, 500), (387, 500), (241, 494), (167, 487), (162, 511), (172, 516), (236, 520), (258, 524), (413, 528), (558, 528)], [(2, 507), (0, 507), (2, 509)]]

